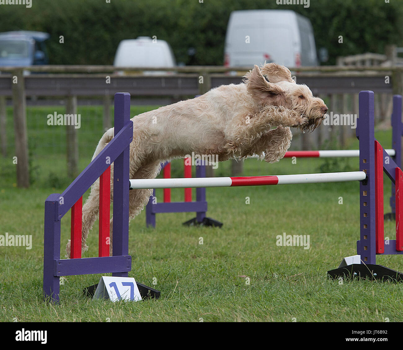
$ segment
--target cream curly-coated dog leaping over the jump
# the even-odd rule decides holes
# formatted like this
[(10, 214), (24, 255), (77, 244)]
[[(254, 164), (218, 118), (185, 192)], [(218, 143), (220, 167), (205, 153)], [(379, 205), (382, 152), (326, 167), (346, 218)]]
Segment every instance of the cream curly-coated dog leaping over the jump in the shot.
[[(132, 118), (130, 178), (155, 178), (161, 162), (192, 152), (218, 155), (219, 161), (257, 154), (266, 162), (278, 162), (290, 146), (290, 126), (313, 130), (327, 110), (324, 101), (314, 97), (306, 85), (293, 81), (288, 68), (274, 63), (255, 66), (245, 75), (244, 83), (222, 85), (200, 97)], [(113, 134), (113, 128), (106, 131), (93, 159)], [(113, 179), (111, 200), (112, 186)], [(152, 189), (130, 191), (130, 219), (140, 213), (151, 192)], [(83, 252), (88, 249), (85, 242), (98, 218), (98, 210), (99, 179), (83, 205)], [(112, 242), (112, 219), (110, 232)], [(69, 256), (70, 241), (66, 246), (66, 257)]]

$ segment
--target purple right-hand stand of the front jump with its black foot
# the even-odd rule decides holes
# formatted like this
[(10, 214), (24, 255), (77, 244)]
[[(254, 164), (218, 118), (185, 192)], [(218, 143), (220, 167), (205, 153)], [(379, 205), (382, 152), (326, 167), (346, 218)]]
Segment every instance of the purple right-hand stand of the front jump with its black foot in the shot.
[[(396, 97), (394, 101), (396, 101)], [(394, 110), (396, 111), (397, 109), (395, 108)], [(361, 91), (359, 93), (359, 118), (357, 120), (356, 135), (359, 140), (359, 170), (367, 174), (367, 180), (361, 181), (359, 185), (360, 239), (357, 241), (357, 255), (345, 257), (339, 268), (328, 271), (328, 275), (332, 278), (345, 276), (370, 280), (403, 280), (403, 273), (382, 265), (376, 265), (376, 255), (403, 254), (403, 251), (397, 251), (395, 240), (388, 240), (387, 244), (385, 241), (383, 253), (377, 253), (376, 251), (376, 143), (374, 119), (374, 92)], [(393, 146), (395, 148), (395, 144)], [(379, 147), (382, 146), (379, 145)], [(400, 159), (400, 148), (395, 149), (396, 156), (399, 156)], [(396, 169), (399, 169), (399, 167), (384, 149), (381, 151), (383, 151), (383, 171), (394, 184)], [(383, 183), (383, 178), (380, 181)], [(383, 201), (383, 193), (379, 200)], [(378, 220), (382, 220), (379, 215)], [(397, 222), (397, 226), (399, 226), (399, 222)]]

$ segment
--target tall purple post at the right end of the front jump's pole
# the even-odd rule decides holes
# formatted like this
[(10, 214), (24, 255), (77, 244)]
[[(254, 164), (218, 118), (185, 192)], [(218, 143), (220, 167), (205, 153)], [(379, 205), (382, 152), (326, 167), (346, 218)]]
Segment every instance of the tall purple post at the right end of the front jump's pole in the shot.
[(359, 185), (360, 240), (357, 254), (365, 264), (376, 264), (375, 226), (375, 136), (374, 92), (359, 93), (359, 118), (356, 129), (359, 139), (359, 170), (366, 172), (367, 180)]

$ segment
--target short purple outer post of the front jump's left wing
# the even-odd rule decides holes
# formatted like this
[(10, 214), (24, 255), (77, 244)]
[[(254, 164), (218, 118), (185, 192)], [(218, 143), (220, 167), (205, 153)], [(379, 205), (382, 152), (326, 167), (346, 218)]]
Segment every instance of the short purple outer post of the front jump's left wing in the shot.
[(59, 302), (60, 292), (60, 277), (54, 275), (54, 261), (60, 259), (59, 199), (60, 194), (54, 193), (45, 201), (43, 293), (45, 300), (54, 303)]

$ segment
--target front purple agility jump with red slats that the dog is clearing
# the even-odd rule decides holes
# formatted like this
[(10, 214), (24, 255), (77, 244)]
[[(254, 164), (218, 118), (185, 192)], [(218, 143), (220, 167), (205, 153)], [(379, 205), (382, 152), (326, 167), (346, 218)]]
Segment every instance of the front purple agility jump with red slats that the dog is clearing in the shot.
[[(403, 254), (403, 173), (390, 159), (374, 137), (374, 93), (359, 94), (359, 119), (356, 130), (359, 138), (359, 171), (325, 174), (300, 174), (279, 176), (249, 176), (225, 178), (185, 179), (129, 179), (129, 145), (133, 138), (133, 122), (130, 120), (130, 94), (115, 94), (114, 137), (93, 159), (62, 194), (52, 194), (45, 201), (44, 225), (44, 284), (46, 300), (59, 302), (59, 279), (67, 275), (112, 273), (127, 277), (131, 270), (129, 255), (129, 188), (166, 187), (217, 187), (297, 184), (317, 182), (360, 181), (360, 240), (357, 256), (350, 265), (328, 271), (331, 277), (359, 275), (377, 280), (401, 280), (403, 274), (376, 265), (376, 255)], [(398, 152), (396, 152), (397, 155)], [(109, 157), (110, 162), (105, 162)], [(388, 161), (386, 162), (386, 159)], [(112, 256), (108, 256), (110, 217), (110, 163), (114, 162), (114, 242)], [(383, 232), (383, 176), (384, 171), (396, 183), (396, 240), (384, 242)], [(81, 258), (81, 203), (82, 196), (98, 178), (100, 181), (100, 235), (99, 256)], [(118, 203), (120, 205), (118, 205)], [(71, 210), (71, 256), (60, 259), (60, 220)], [(358, 257), (358, 258), (357, 258)], [(347, 259), (345, 259), (347, 261)], [(356, 263), (356, 262), (359, 263)], [(137, 284), (143, 295), (158, 291)], [(155, 294), (154, 294), (155, 295)]]

